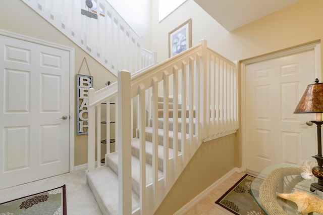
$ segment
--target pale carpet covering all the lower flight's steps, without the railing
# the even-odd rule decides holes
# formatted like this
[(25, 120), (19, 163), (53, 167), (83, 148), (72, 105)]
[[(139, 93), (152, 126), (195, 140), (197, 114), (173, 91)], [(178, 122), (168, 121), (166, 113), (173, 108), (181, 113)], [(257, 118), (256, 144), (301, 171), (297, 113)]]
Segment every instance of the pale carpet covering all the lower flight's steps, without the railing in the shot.
[[(173, 99), (169, 99), (169, 157), (173, 157)], [(163, 177), (163, 98), (158, 98), (158, 179)], [(181, 105), (179, 104), (178, 148), (181, 151)], [(194, 112), (195, 114), (195, 112)], [(188, 111), (186, 113), (188, 117)], [(152, 125), (152, 119), (149, 119)], [(188, 121), (186, 122), (188, 131)], [(194, 129), (195, 130), (195, 129)], [(137, 132), (139, 136), (139, 132)], [(139, 138), (131, 140), (132, 167), (132, 211), (139, 207)], [(118, 214), (118, 152), (105, 155), (107, 166), (90, 171), (87, 174), (88, 184), (103, 214)], [(152, 183), (152, 127), (146, 127), (146, 183)]]

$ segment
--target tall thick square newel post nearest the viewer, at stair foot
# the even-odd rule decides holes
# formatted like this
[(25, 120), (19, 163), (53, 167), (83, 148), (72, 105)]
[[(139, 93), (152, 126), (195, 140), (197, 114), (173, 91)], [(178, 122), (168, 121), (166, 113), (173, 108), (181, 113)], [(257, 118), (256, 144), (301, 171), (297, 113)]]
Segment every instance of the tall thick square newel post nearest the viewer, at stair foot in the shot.
[(119, 214), (131, 214), (131, 96), (130, 72), (118, 73)]

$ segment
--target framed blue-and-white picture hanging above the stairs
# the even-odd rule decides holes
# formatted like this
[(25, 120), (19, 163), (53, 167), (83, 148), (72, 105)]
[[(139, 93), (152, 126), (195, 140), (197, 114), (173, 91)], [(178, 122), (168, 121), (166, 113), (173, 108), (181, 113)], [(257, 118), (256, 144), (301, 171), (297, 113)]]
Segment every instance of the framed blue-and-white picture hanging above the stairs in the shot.
[(170, 58), (192, 47), (192, 19), (169, 32), (168, 46)]

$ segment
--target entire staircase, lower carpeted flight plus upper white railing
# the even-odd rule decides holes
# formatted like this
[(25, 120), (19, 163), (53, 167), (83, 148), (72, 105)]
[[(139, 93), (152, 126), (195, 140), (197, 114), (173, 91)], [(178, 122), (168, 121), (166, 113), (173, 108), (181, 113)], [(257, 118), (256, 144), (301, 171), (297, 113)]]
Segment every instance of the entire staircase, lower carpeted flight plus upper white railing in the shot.
[[(238, 129), (236, 65), (199, 44), (157, 64), (143, 38), (106, 2), (81, 15), (85, 1), (21, 0), (113, 74), (118, 82), (88, 92), (88, 184), (103, 214), (153, 214), (198, 147)], [(126, 69), (126, 70), (124, 70)], [(128, 72), (130, 71), (130, 72)], [(101, 162), (101, 103), (106, 141)], [(133, 135), (135, 134), (135, 135)]]

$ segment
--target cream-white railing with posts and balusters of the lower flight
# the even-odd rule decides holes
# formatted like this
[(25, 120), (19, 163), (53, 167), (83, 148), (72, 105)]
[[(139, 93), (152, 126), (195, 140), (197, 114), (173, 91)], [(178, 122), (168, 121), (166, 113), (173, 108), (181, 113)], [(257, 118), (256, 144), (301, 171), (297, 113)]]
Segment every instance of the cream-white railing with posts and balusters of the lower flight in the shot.
[[(88, 133), (88, 165), (89, 171), (94, 170), (95, 139), (95, 108), (104, 100), (118, 96), (117, 136), (127, 138), (119, 140), (119, 211), (130, 214), (131, 205), (131, 142), (130, 134), (133, 124), (124, 117), (135, 115), (138, 119), (140, 141), (140, 207), (132, 213), (153, 214), (163, 198), (171, 189), (185, 166), (203, 141), (216, 139), (235, 133), (238, 129), (238, 103), (237, 103), (237, 69), (236, 65), (206, 46), (201, 40), (185, 52), (171, 59), (161, 62), (141, 73), (130, 75), (127, 71), (118, 74), (118, 83), (109, 87), (89, 92), (89, 133)], [(118, 88), (118, 94), (117, 94)], [(121, 93), (120, 93), (121, 92)], [(151, 100), (152, 117), (152, 183), (146, 184), (146, 96)], [(181, 95), (181, 96), (179, 96)], [(168, 113), (173, 111), (173, 132), (179, 130), (181, 123), (181, 136), (173, 135), (173, 142), (169, 141), (169, 128), (164, 123), (164, 163), (163, 176), (158, 178), (158, 131), (157, 109), (158, 97), (164, 101), (164, 122), (168, 122)], [(169, 97), (173, 97), (173, 108), (169, 108)], [(178, 98), (181, 98), (179, 101)], [(131, 99), (138, 100), (138, 111), (132, 112)], [(149, 102), (149, 101), (148, 101)], [(179, 117), (179, 103), (182, 113)], [(98, 113), (97, 113), (98, 114)], [(195, 114), (195, 116), (194, 116)], [(149, 116), (149, 115), (148, 115)], [(99, 120), (99, 119), (98, 119)], [(186, 131), (188, 122), (189, 127)], [(195, 124), (195, 126), (193, 126)], [(181, 144), (178, 144), (178, 142)], [(170, 152), (173, 144), (173, 152)], [(98, 145), (99, 146), (99, 145)]]

